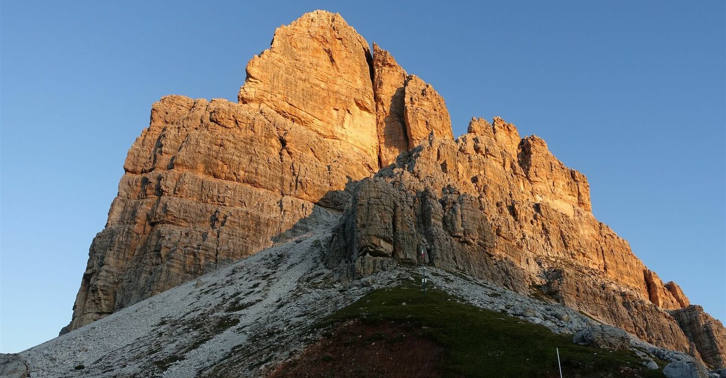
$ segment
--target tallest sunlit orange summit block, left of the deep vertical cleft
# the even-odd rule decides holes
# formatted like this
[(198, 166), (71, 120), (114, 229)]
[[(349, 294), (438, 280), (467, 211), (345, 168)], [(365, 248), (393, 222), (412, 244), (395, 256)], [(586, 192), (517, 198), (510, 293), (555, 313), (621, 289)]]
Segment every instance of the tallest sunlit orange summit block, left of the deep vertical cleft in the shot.
[(362, 149), (378, 165), (368, 42), (343, 17), (307, 13), (277, 28), (253, 57), (242, 104), (265, 104), (294, 123)]

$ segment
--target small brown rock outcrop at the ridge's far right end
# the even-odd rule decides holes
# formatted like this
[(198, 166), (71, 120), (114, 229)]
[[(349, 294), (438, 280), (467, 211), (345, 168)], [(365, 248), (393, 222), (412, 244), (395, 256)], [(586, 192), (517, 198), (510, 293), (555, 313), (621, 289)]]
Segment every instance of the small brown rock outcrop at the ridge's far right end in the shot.
[(704, 362), (711, 366), (726, 366), (726, 329), (720, 321), (704, 312), (699, 305), (689, 305), (670, 313), (688, 340), (696, 345)]

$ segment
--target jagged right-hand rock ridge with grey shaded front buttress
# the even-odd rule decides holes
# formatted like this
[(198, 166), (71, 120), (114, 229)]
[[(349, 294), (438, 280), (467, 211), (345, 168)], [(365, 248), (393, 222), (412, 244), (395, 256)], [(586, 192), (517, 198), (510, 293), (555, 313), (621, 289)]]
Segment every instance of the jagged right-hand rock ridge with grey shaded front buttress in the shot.
[(340, 278), (375, 271), (370, 258), (465, 271), (700, 358), (664, 310), (688, 300), (592, 216), (582, 173), (501, 118), (474, 119), (469, 131), (431, 137), (356, 185), (330, 242)]

